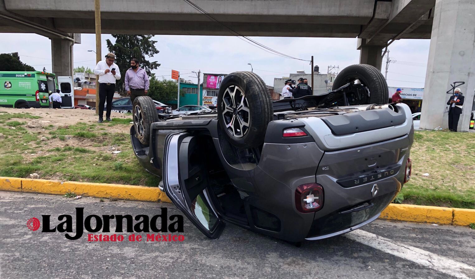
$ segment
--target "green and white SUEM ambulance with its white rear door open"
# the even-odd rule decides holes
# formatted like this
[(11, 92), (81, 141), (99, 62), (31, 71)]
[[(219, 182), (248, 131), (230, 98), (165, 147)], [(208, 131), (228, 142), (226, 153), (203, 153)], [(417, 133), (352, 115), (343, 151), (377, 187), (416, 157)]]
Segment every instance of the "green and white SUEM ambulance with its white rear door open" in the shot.
[(48, 108), (49, 91), (60, 89), (61, 107), (73, 108), (72, 85), (71, 77), (56, 77), (47, 72), (0, 72), (0, 106)]

